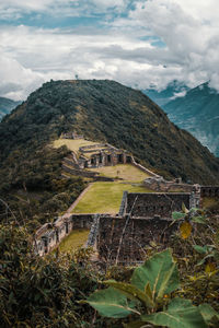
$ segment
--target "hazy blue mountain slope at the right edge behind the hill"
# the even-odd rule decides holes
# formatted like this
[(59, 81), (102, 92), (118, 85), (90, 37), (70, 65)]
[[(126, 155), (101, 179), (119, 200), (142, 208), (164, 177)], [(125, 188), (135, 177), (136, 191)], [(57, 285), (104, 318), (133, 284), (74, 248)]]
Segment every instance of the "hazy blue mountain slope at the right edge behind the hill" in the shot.
[(219, 93), (206, 82), (163, 105), (169, 118), (219, 157)]

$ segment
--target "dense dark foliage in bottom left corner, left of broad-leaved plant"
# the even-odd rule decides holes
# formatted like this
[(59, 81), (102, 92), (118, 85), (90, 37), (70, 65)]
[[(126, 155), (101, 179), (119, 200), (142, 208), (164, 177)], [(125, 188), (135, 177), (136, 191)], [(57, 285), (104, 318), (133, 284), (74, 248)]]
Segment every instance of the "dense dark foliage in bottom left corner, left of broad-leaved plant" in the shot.
[(90, 250), (41, 258), (24, 227), (0, 226), (0, 323), (9, 327), (89, 327), (93, 311), (78, 301), (94, 291)]

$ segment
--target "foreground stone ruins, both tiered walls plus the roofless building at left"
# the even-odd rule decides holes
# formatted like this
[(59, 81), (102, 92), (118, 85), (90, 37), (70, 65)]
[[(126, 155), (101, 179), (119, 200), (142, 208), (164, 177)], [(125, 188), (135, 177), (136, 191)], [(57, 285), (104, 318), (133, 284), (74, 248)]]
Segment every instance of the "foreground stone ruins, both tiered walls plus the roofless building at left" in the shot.
[(150, 242), (168, 246), (177, 223), (172, 212), (182, 203), (194, 206), (193, 194), (124, 192), (117, 215), (69, 214), (53, 224), (44, 224), (35, 234), (35, 251), (44, 256), (51, 251), (74, 229), (89, 229), (87, 246), (93, 246), (101, 262), (136, 263), (143, 259)]

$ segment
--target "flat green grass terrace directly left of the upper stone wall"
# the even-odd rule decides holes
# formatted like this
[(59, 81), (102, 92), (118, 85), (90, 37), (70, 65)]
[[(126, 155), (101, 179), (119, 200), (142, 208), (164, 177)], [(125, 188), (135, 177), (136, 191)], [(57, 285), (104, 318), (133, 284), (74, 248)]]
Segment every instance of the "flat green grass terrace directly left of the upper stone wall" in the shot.
[(141, 186), (123, 183), (94, 183), (73, 209), (73, 213), (112, 213), (119, 210), (123, 191), (149, 192)]

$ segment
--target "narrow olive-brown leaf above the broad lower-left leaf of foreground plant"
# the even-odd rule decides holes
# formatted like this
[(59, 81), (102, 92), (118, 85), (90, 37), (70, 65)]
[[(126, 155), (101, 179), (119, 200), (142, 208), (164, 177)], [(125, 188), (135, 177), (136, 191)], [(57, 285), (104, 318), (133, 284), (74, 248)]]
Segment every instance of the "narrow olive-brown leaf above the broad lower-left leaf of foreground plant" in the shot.
[(106, 280), (104, 281), (104, 283), (120, 291), (124, 295), (126, 295), (130, 300), (141, 301), (145, 303), (146, 306), (153, 307), (152, 297), (150, 298), (146, 293), (143, 293), (137, 286), (130, 283), (117, 282), (115, 280)]

